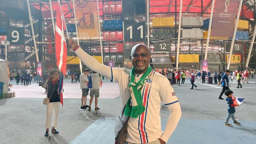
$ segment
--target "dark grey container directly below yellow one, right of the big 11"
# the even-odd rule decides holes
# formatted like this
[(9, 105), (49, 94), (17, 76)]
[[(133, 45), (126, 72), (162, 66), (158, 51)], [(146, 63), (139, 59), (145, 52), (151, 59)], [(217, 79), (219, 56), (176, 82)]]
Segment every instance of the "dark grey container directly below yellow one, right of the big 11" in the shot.
[(176, 32), (174, 28), (152, 31), (153, 38), (158, 38), (158, 39), (175, 38), (175, 34)]

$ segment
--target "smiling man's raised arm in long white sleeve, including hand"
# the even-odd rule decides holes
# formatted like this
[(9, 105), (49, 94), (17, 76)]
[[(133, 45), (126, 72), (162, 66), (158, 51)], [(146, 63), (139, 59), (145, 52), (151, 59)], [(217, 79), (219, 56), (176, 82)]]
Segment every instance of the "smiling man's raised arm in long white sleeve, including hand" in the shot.
[(99, 63), (94, 57), (82, 50), (73, 39), (70, 39), (69, 45), (88, 68), (111, 80), (111, 68), (109, 66)]

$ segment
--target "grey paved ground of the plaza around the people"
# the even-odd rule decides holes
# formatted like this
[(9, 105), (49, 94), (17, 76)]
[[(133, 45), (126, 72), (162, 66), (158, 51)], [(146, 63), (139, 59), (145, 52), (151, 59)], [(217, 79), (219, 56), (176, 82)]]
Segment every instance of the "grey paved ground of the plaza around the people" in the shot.
[[(98, 107), (100, 111), (91, 112), (80, 109), (81, 90), (79, 84), (64, 83), (64, 106), (60, 108), (58, 126), (60, 134), (44, 137), (46, 106), (42, 105), (44, 89), (33, 83), (30, 86), (13, 84), (14, 98), (0, 99), (0, 143), (2, 144), (66, 144), (66, 143), (113, 143), (113, 125), (121, 110), (119, 89), (116, 83), (103, 80)], [(180, 101), (182, 117), (169, 144), (215, 144), (256, 142), (256, 79), (236, 89), (231, 84), (234, 95), (246, 98), (240, 107), (236, 107), (235, 117), (241, 126), (226, 127), (227, 115), (225, 100), (219, 100), (222, 90), (214, 84), (197, 84), (190, 90), (191, 84), (174, 85)], [(223, 95), (223, 98), (225, 96)], [(89, 102), (89, 100), (87, 100)], [(93, 105), (94, 107), (94, 105)], [(164, 129), (169, 111), (161, 108), (162, 127)]]

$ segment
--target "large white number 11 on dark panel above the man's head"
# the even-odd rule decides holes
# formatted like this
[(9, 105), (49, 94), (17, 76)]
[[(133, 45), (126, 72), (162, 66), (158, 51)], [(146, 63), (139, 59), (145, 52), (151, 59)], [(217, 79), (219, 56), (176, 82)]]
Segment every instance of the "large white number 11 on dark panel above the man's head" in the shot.
[(145, 41), (145, 22), (125, 23), (124, 24), (125, 42), (144, 42)]

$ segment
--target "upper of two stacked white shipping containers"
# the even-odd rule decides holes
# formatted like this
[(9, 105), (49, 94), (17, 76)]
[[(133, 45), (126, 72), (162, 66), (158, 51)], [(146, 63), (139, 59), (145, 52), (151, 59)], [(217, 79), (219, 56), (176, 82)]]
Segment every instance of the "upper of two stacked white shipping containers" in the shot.
[(203, 17), (182, 17), (181, 26), (183, 27), (201, 27), (203, 26)]

